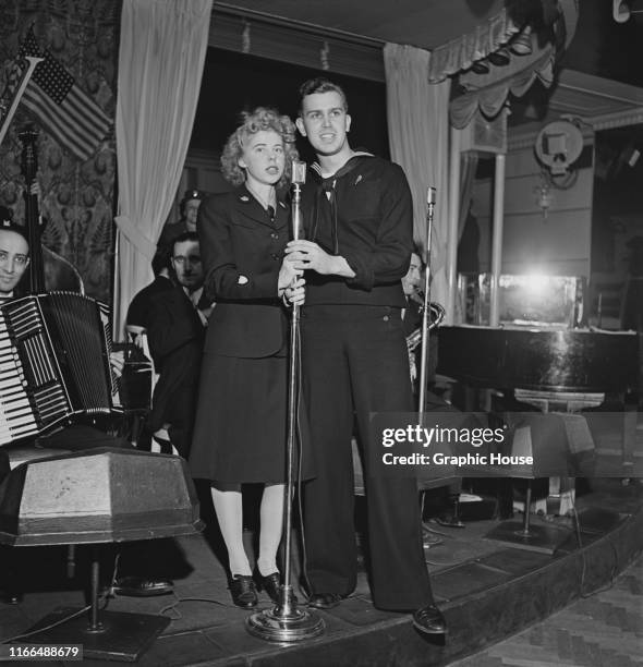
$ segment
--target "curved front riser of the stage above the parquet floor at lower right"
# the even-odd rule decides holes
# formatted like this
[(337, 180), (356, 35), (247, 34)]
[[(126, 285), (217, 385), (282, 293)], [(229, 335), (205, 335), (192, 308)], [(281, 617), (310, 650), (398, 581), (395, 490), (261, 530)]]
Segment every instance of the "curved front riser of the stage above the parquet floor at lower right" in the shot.
[[(421, 636), (409, 617), (351, 633), (333, 633), (330, 619), (326, 635), (319, 640), (254, 655), (252, 664), (253, 667), (446, 665), (488, 647), (565, 608), (581, 595), (607, 585), (642, 551), (643, 512), (638, 512), (582, 551), (557, 555), (545, 567), (507, 584), (442, 604), (450, 629), (442, 645)], [(230, 664), (233, 663), (226, 663)]]

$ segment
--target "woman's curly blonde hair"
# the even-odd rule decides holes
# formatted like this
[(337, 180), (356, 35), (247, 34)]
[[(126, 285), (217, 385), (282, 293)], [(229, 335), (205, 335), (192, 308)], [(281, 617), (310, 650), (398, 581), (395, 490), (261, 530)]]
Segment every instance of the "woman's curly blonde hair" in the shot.
[(262, 130), (271, 130), (283, 140), (286, 167), (277, 187), (283, 187), (290, 182), (292, 160), (299, 159), (299, 153), (294, 145), (294, 123), (288, 116), (280, 116), (277, 109), (257, 107), (254, 111), (243, 111), (241, 113), (241, 125), (228, 137), (223, 147), (221, 173), (229, 183), (241, 185), (245, 182), (245, 171), (239, 166), (239, 158), (243, 153), (243, 145), (247, 137)]

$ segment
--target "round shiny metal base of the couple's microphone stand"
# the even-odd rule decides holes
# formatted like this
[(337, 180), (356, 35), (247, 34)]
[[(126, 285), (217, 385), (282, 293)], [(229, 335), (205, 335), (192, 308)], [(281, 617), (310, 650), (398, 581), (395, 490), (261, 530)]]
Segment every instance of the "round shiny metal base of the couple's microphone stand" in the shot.
[(307, 609), (299, 609), (293, 597), (288, 596), (271, 609), (250, 616), (245, 628), (253, 636), (267, 642), (293, 644), (322, 634), (324, 621)]

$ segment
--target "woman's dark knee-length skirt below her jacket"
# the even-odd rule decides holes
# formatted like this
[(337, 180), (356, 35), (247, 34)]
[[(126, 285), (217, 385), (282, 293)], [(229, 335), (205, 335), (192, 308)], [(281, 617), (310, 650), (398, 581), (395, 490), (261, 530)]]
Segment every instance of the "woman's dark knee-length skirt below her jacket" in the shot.
[(205, 354), (192, 476), (222, 484), (286, 481), (288, 359)]

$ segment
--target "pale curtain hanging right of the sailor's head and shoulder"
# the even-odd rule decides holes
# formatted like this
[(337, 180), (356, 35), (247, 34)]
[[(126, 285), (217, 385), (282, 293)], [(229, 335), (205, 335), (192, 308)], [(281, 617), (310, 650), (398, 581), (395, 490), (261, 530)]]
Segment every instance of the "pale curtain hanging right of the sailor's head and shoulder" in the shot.
[(430, 271), (432, 301), (447, 303), (447, 231), (449, 220), (450, 80), (428, 83), (430, 53), (398, 44), (384, 48), (388, 134), (391, 158), (400, 165), (413, 194), (415, 241), (426, 250), (426, 195), (436, 189)]

